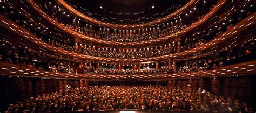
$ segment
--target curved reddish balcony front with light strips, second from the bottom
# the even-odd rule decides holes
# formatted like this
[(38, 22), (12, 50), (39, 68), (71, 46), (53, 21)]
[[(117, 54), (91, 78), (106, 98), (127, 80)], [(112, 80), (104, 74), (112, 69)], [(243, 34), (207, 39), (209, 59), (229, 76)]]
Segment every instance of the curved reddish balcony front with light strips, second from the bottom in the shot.
[[(170, 60), (170, 59), (172, 61), (179, 61), (179, 60), (185, 60), (190, 58), (195, 59), (195, 58), (204, 57), (208, 54), (218, 53), (219, 51), (227, 50), (232, 46), (245, 43), (246, 39), (243, 39), (244, 37), (237, 38), (237, 40), (239, 39), (241, 41), (235, 41), (235, 42), (229, 41), (230, 44), (227, 44), (227, 40), (233, 38), (235, 35), (237, 35), (241, 31), (254, 26), (255, 18), (256, 18), (256, 13), (253, 13), (251, 16), (248, 16), (247, 18), (242, 20), (240, 23), (233, 26), (231, 29), (227, 30), (226, 32), (224, 32), (214, 40), (211, 40), (207, 44), (201, 45), (191, 50), (179, 52), (175, 54), (159, 56), (159, 57), (140, 58), (140, 59), (111, 59), (111, 58), (92, 57), (89, 55), (72, 53), (72, 52), (64, 51), (61, 48), (56, 48), (56, 47), (53, 47), (52, 45), (44, 43), (42, 40), (39, 40), (38, 38), (36, 38), (29, 31), (18, 26), (14, 22), (11, 22), (10, 20), (5, 19), (3, 16), (1, 16), (1, 25), (10, 31), (16, 32), (19, 36), (23, 37), (28, 41), (31, 41), (31, 43), (36, 44), (38, 47), (42, 47), (45, 50), (56, 52), (58, 54), (67, 55), (70, 57), (76, 57), (84, 60), (106, 61), (106, 62), (112, 62), (112, 63), (114, 62), (124, 62), (124, 63), (137, 62), (138, 63), (138, 62), (153, 62), (153, 61)], [(250, 30), (248, 32), (250, 32)], [(200, 54), (197, 54), (197, 53), (200, 53)]]

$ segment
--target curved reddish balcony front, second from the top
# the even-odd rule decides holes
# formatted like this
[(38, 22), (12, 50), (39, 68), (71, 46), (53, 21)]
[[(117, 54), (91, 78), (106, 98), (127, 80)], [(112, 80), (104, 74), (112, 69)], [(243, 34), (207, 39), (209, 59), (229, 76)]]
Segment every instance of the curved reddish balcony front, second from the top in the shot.
[(72, 36), (78, 37), (80, 39), (92, 41), (94, 43), (107, 44), (107, 45), (113, 45), (113, 46), (117, 46), (117, 45), (119, 45), (119, 46), (134, 46), (134, 45), (142, 46), (142, 45), (160, 43), (160, 42), (170, 40), (173, 38), (179, 38), (182, 34), (196, 29), (198, 26), (205, 23), (206, 20), (210, 19), (226, 3), (226, 0), (219, 1), (217, 3), (217, 5), (214, 6), (214, 8), (212, 8), (212, 10), (207, 13), (207, 15), (205, 15), (203, 18), (201, 18), (198, 22), (193, 23), (189, 27), (186, 27), (186, 29), (183, 29), (177, 33), (171, 34), (170, 36), (167, 36), (167, 37), (162, 37), (162, 38), (158, 38), (158, 39), (150, 40), (150, 41), (138, 41), (138, 42), (105, 41), (105, 40), (100, 40), (100, 39), (95, 39), (95, 38), (84, 36), (83, 34), (80, 34), (78, 32), (71, 31), (71, 30), (67, 29), (66, 27), (64, 27), (63, 24), (58, 23), (55, 19), (52, 19), (50, 16), (46, 15), (46, 13), (38, 5), (36, 5), (34, 1), (27, 1), (27, 2), (30, 4), (30, 6), (33, 9), (35, 9), (49, 23), (51, 23), (52, 25), (55, 25), (56, 27), (58, 27), (58, 29), (63, 30), (64, 32), (68, 32)]

